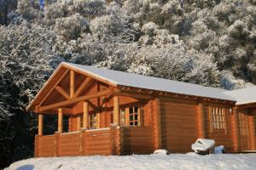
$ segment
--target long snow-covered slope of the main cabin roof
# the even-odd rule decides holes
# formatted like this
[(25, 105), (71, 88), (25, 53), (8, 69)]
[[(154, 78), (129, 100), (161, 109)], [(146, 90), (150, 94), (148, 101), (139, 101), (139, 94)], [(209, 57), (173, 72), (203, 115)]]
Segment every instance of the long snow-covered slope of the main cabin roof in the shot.
[(128, 72), (107, 70), (87, 65), (77, 65), (66, 62), (62, 63), (62, 65), (72, 66), (73, 68), (84, 71), (85, 73), (95, 77), (100, 77), (116, 85), (236, 101), (236, 99), (232, 96), (224, 94), (224, 92), (227, 92), (226, 90), (220, 88), (204, 87), (187, 82), (177, 82), (163, 78), (147, 77)]

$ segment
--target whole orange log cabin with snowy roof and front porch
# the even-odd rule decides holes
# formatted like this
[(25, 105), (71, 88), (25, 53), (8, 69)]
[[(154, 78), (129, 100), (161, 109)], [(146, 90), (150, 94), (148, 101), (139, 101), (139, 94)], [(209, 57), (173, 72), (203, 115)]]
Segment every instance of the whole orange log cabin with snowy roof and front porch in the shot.
[[(38, 157), (185, 153), (199, 138), (227, 152), (256, 147), (255, 87), (227, 91), (63, 62), (27, 111), (38, 114)], [(49, 115), (57, 129), (44, 135)]]

